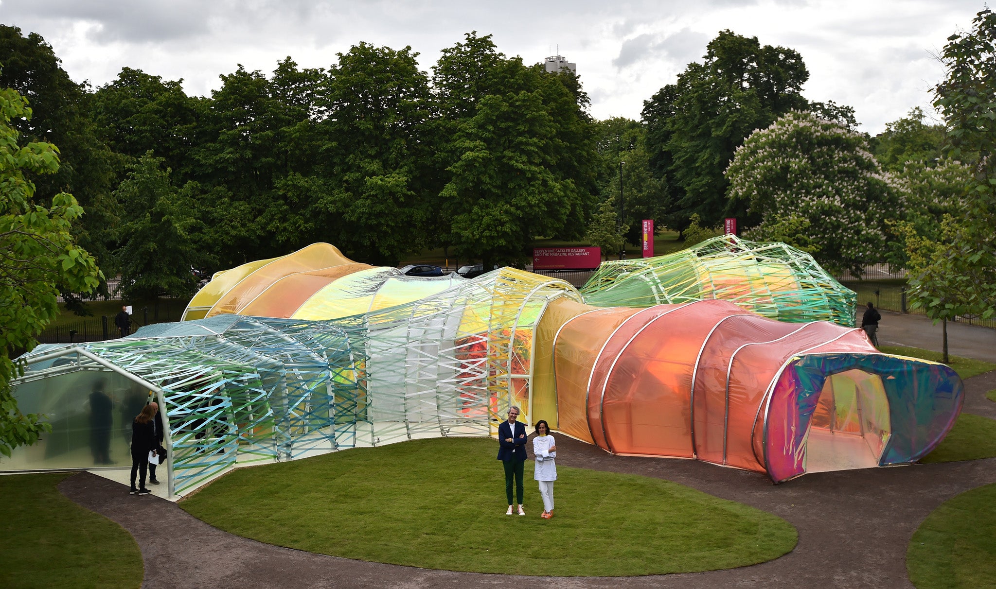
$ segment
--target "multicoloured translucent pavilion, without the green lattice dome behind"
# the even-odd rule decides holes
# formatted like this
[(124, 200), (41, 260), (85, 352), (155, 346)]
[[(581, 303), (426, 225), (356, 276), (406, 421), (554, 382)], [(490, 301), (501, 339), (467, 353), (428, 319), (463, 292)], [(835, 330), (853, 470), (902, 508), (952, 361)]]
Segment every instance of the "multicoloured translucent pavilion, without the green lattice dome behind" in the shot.
[(121, 466), (130, 418), (150, 396), (164, 408), (180, 495), (243, 464), (493, 435), (512, 405), (527, 423), (546, 419), (612, 453), (698, 459), (776, 483), (915, 462), (953, 425), (963, 388), (947, 366), (743, 302), (596, 306), (521, 270), (412, 279), (317, 244), (218, 273), (190, 320), (38, 346), (13, 386), (53, 432), (0, 470)]

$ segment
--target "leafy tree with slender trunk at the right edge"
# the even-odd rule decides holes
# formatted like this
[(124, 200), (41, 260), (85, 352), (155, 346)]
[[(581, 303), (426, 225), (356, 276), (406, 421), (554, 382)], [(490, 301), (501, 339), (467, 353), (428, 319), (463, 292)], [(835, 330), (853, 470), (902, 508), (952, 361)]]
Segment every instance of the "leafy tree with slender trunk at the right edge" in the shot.
[[(972, 30), (948, 37), (947, 70), (934, 88), (934, 106), (947, 123), (949, 157), (974, 159), (968, 197), (948, 215), (938, 239), (904, 230), (911, 305), (934, 321), (996, 312), (996, 13), (983, 10)], [(945, 357), (947, 349), (945, 329)]]

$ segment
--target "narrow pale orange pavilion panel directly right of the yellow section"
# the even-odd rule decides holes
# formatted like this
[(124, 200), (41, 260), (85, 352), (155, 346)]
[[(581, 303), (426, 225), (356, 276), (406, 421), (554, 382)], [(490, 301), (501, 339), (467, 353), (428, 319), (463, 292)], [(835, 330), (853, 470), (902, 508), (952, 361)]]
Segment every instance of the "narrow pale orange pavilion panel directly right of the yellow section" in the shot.
[(561, 432), (594, 444), (586, 406), (592, 367), (609, 335), (636, 312), (638, 309), (629, 307), (596, 308), (574, 317), (561, 328), (554, 341)]

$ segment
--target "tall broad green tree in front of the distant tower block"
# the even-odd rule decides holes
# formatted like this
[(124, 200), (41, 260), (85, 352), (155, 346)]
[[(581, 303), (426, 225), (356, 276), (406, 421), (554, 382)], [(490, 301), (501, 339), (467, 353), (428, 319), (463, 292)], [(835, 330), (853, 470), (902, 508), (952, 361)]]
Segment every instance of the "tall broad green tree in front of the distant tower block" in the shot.
[[(584, 234), (599, 190), (600, 158), (595, 127), (584, 110), (588, 97), (576, 76), (566, 72), (550, 74), (541, 65), (526, 67), (521, 59), (508, 59), (499, 53), (490, 35), (478, 37), (469, 33), (464, 43), (443, 50), (433, 69), (432, 87), (439, 104), (441, 144), (435, 167), (446, 184), (439, 192), (436, 208), (450, 220), (440, 232), (442, 245), (456, 246), (462, 255), (489, 256), (494, 261), (513, 263), (524, 259), (525, 248), (535, 236), (578, 239)], [(531, 98), (527, 100), (524, 95)], [(523, 136), (521, 141), (515, 141), (513, 137), (498, 138), (497, 129), (481, 126), (488, 120), (495, 122), (495, 117), (504, 119), (506, 105), (516, 102), (528, 103), (535, 111), (521, 113), (518, 122), (504, 120), (503, 124), (509, 125), (504, 132), (515, 132), (513, 127), (519, 123), (524, 132), (534, 132), (526, 129), (538, 128), (536, 121), (544, 119), (547, 122), (540, 125), (545, 128), (544, 135)], [(535, 147), (529, 147), (531, 153), (491, 152), (494, 157), (471, 166), (468, 158), (482, 153), (481, 145), (471, 137), (483, 140), (486, 151), (498, 149), (501, 141), (508, 148), (525, 149), (530, 144)], [(551, 193), (549, 218), (533, 221), (521, 218), (531, 208), (521, 200), (514, 202), (521, 198), (521, 193), (517, 197), (502, 193), (497, 187), (482, 186), (481, 194), (490, 193), (490, 198), (499, 199), (487, 206), (472, 196), (475, 189), (470, 186), (474, 182), (505, 177), (511, 170), (505, 166), (516, 158), (530, 162), (528, 172), (524, 169), (515, 174), (517, 183), (539, 180), (539, 176), (533, 175), (537, 170), (531, 165), (541, 161), (549, 173), (550, 185), (568, 188), (563, 194)], [(468, 175), (471, 173), (479, 174), (476, 180)], [(560, 208), (554, 210), (557, 206)], [(473, 212), (475, 207), (481, 214)], [(486, 209), (488, 214), (483, 215)], [(496, 214), (497, 209), (505, 213)], [(473, 223), (471, 218), (475, 218)], [(475, 226), (491, 236), (491, 246), (476, 242), (470, 229)], [(525, 233), (514, 236), (517, 231)]]

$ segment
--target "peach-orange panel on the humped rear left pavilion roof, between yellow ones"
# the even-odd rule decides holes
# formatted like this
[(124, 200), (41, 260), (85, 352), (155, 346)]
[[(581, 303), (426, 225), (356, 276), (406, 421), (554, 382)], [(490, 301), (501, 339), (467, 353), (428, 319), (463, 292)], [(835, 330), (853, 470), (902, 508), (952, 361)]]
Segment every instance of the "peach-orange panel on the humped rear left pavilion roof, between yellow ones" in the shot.
[[(297, 273), (352, 264), (338, 248), (329, 244), (312, 244), (293, 254), (261, 266), (234, 285), (207, 311), (207, 316), (218, 313), (239, 313), (242, 308), (280, 279)], [(227, 275), (226, 275), (227, 276)]]

